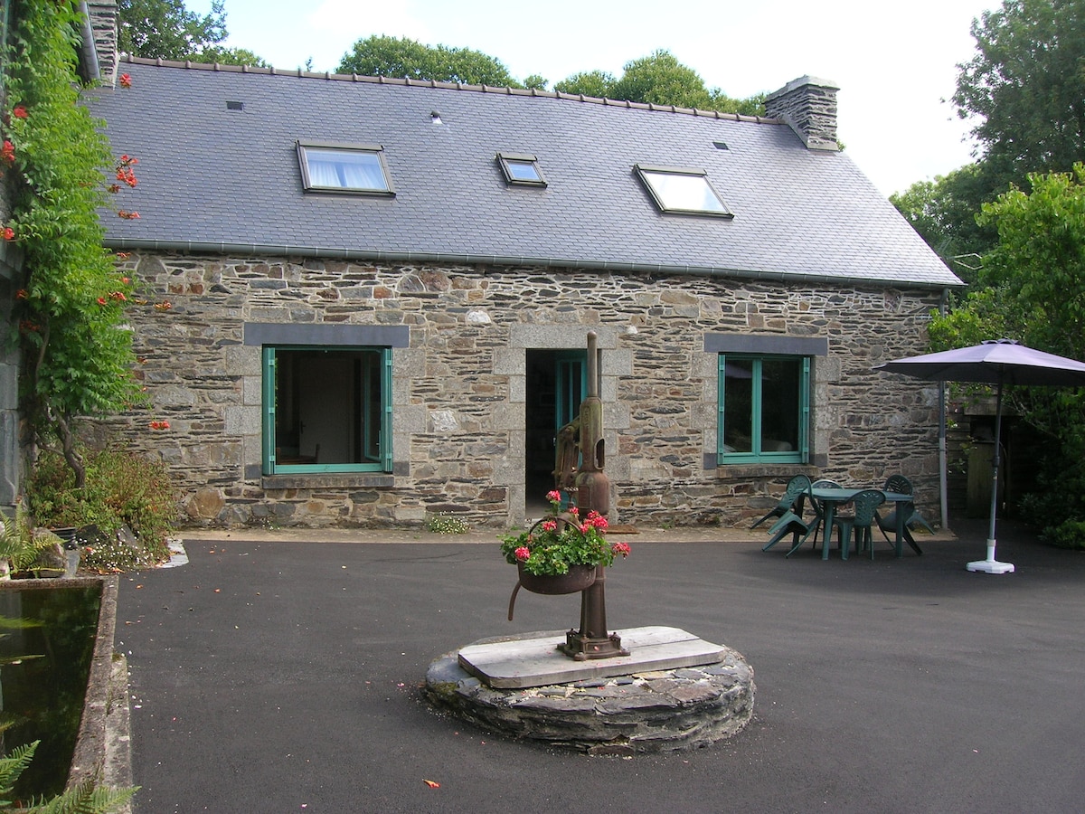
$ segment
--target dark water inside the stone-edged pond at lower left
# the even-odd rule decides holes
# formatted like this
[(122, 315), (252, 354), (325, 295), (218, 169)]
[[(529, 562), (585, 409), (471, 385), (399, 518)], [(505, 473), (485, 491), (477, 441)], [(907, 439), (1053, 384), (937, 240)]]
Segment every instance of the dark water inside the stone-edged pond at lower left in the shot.
[[(94, 654), (101, 585), (0, 589), (0, 616), (40, 624), (0, 629), (0, 746), (41, 740), (15, 798), (64, 790)], [(21, 658), (42, 657), (42, 658)], [(16, 663), (7, 663), (18, 659)]]

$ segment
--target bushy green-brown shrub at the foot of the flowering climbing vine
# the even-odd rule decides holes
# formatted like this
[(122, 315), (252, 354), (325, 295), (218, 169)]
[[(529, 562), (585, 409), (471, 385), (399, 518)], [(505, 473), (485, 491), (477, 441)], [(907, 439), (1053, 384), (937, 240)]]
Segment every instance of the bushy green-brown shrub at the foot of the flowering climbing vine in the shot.
[[(87, 484), (76, 488), (64, 458), (47, 451), (27, 479), (30, 514), (38, 525), (94, 525), (100, 538), (85, 549), (86, 567), (127, 571), (169, 556), (167, 536), (178, 517), (177, 494), (161, 461), (104, 449), (85, 451)], [(131, 537), (124, 533), (127, 526)]]

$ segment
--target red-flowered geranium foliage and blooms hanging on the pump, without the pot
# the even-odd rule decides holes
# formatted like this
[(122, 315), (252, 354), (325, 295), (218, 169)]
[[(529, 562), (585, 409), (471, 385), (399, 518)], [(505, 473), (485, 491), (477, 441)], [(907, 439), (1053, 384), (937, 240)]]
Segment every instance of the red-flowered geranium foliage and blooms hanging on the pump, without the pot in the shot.
[(611, 565), (617, 555), (629, 556), (628, 543), (611, 544), (605, 538), (607, 518), (591, 511), (583, 520), (571, 506), (559, 513), (561, 493), (547, 493), (551, 514), (519, 534), (501, 537), (506, 562), (523, 567), (535, 576), (569, 573), (571, 565)]

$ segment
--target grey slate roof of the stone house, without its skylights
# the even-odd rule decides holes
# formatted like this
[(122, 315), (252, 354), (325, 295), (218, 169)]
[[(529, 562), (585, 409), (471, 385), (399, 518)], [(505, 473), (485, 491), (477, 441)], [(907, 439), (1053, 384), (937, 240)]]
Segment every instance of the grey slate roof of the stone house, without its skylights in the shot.
[[(846, 152), (775, 119), (139, 59), (118, 73), (130, 88), (88, 94), (140, 162), (116, 199), (140, 218), (105, 218), (116, 249), (959, 284)], [(306, 193), (298, 140), (383, 145), (395, 196)], [(509, 187), (499, 152), (537, 156), (549, 186)], [(733, 219), (660, 213), (638, 163), (707, 170)]]

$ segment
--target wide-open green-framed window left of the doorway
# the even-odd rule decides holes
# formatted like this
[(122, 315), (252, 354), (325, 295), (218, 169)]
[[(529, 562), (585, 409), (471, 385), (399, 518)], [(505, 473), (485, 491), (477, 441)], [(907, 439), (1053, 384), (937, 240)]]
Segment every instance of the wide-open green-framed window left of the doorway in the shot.
[(391, 472), (388, 347), (263, 346), (264, 473)]

